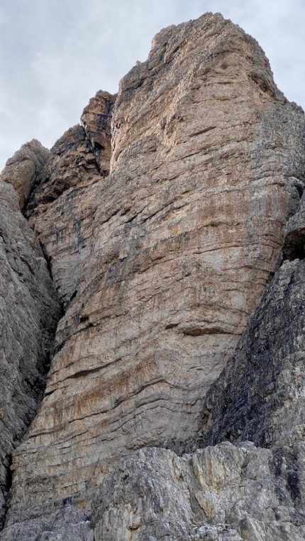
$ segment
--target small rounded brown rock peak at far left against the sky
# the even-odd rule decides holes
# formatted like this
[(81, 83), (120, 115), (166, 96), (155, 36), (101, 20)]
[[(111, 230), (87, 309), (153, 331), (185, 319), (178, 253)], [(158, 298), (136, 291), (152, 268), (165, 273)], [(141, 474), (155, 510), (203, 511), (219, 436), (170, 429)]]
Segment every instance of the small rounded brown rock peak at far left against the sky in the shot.
[(27, 203), (34, 184), (39, 182), (43, 166), (50, 152), (37, 139), (23, 144), (12, 158), (6, 161), (1, 182), (12, 184), (19, 195), (21, 210)]

